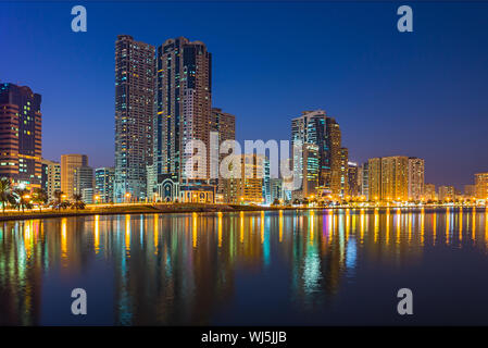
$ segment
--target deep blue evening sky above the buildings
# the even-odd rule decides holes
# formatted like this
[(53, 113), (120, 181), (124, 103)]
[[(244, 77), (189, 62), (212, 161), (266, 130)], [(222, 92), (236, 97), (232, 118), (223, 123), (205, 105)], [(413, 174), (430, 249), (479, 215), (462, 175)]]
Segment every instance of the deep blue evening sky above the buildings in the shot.
[(421, 157), (426, 182), (461, 188), (488, 171), (488, 3), (410, 3), (414, 33), (397, 30), (400, 4), (0, 2), (0, 82), (42, 95), (45, 158), (113, 165), (116, 35), (186, 36), (212, 52), (238, 140), (289, 139), (292, 117), (324, 109), (352, 161)]

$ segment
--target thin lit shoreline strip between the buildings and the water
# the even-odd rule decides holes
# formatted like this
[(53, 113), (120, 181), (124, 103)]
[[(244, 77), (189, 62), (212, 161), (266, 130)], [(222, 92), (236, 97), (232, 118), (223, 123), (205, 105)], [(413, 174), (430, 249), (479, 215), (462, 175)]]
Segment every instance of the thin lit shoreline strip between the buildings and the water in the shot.
[(32, 220), (32, 219), (55, 219), (55, 217), (77, 217), (77, 216), (92, 216), (92, 215), (122, 215), (122, 214), (178, 214), (178, 213), (229, 213), (229, 212), (256, 212), (256, 211), (302, 211), (302, 210), (350, 210), (350, 211), (378, 211), (386, 212), (387, 210), (409, 210), (437, 212), (452, 210), (476, 210), (476, 212), (488, 211), (488, 207), (473, 207), (473, 206), (427, 206), (427, 207), (258, 207), (258, 206), (240, 206), (240, 204), (204, 204), (204, 203), (179, 203), (179, 204), (140, 204), (140, 206), (113, 206), (103, 208), (88, 208), (79, 211), (61, 210), (61, 211), (45, 211), (45, 212), (0, 212), (0, 221), (16, 221), (16, 220)]

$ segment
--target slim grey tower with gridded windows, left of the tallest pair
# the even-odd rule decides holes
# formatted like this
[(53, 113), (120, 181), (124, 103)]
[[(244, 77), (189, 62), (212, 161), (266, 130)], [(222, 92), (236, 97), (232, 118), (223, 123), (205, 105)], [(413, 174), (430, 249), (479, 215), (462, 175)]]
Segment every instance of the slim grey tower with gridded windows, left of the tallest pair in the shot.
[(152, 164), (154, 108), (153, 46), (118, 35), (115, 41), (114, 200), (147, 197), (147, 166)]

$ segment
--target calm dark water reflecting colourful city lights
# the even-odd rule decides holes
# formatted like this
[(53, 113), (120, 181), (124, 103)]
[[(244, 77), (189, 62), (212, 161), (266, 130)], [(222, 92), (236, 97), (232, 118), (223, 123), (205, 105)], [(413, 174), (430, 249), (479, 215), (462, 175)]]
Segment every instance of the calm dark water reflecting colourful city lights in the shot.
[[(0, 324), (487, 325), (487, 251), (472, 209), (4, 222)], [(88, 315), (71, 314), (74, 288)]]

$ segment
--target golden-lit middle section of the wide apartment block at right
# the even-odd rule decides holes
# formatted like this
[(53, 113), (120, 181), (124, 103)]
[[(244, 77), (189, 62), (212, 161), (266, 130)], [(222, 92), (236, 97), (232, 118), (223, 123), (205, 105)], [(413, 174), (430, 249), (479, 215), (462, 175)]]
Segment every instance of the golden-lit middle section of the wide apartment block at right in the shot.
[(402, 156), (381, 158), (381, 199), (409, 198), (409, 158)]

